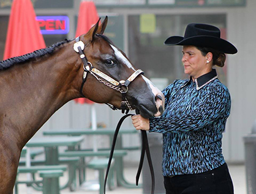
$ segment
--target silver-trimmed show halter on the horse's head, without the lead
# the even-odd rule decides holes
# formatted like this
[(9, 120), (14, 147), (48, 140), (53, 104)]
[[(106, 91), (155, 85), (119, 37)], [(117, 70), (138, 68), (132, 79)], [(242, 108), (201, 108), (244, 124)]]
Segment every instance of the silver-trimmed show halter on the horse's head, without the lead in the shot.
[[(83, 72), (83, 82), (80, 87), (81, 95), (85, 97), (85, 95), (83, 95), (83, 85), (85, 85), (87, 73), (91, 73), (92, 76), (96, 77), (96, 79), (100, 83), (107, 85), (108, 87), (112, 88), (113, 90), (117, 90), (117, 91), (121, 92), (121, 94), (122, 94), (122, 101), (121, 101), (122, 113), (124, 113), (125, 110), (127, 110), (127, 112), (129, 112), (129, 110), (133, 110), (132, 106), (130, 106), (129, 101), (126, 98), (126, 93), (128, 91), (128, 85), (130, 84), (130, 82), (134, 81), (134, 79), (138, 75), (143, 74), (144, 72), (142, 70), (137, 70), (126, 81), (121, 80), (118, 82), (115, 79), (108, 76), (107, 74), (103, 73), (102, 71), (97, 70), (97, 68), (94, 68), (92, 66), (91, 62), (88, 62), (88, 60), (85, 56), (85, 52), (83, 52), (83, 50), (85, 49), (85, 43), (83, 43), (83, 41), (80, 40), (80, 37), (75, 38), (75, 44), (73, 45), (73, 49), (75, 50), (75, 52), (78, 52), (80, 54), (80, 58), (83, 61), (84, 72)], [(126, 88), (126, 89), (123, 90), (122, 88)], [(111, 104), (107, 104), (107, 105), (113, 110), (117, 109), (115, 106), (113, 106)]]

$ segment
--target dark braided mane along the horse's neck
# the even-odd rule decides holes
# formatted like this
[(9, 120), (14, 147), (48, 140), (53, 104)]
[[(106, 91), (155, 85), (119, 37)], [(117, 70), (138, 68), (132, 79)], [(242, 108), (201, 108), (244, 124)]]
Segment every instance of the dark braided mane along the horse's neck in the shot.
[(68, 43), (69, 41), (70, 40), (60, 41), (58, 43), (55, 43), (54, 45), (48, 46), (47, 48), (39, 49), (34, 52), (24, 54), (23, 56), (12, 57), (10, 59), (3, 60), (0, 62), (0, 70), (7, 69), (10, 66), (18, 64), (18, 63), (29, 62), (33, 59), (44, 56), (45, 54), (51, 54), (53, 51), (55, 51), (55, 48), (58, 48), (59, 46), (63, 45), (64, 43)]

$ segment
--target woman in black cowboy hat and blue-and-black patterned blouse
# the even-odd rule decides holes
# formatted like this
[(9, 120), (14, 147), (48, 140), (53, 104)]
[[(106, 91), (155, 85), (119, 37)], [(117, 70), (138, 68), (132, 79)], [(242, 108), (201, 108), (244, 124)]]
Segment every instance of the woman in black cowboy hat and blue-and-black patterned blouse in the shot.
[(162, 170), (167, 194), (230, 194), (233, 184), (222, 155), (222, 132), (230, 115), (230, 93), (217, 79), (214, 65), (224, 66), (225, 54), (237, 49), (208, 24), (189, 24), (184, 37), (165, 45), (183, 45), (187, 80), (168, 85), (161, 117), (132, 117), (137, 130), (163, 134)]

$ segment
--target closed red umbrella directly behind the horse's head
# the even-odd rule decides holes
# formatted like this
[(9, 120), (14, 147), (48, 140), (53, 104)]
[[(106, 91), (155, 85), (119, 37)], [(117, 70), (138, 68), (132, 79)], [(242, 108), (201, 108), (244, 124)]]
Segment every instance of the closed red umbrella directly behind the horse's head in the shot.
[[(79, 13), (78, 13), (78, 22), (77, 22), (77, 32), (75, 36), (78, 37), (82, 34), (86, 34), (86, 32), (91, 29), (94, 24), (99, 20), (99, 16), (97, 13), (96, 6), (92, 1), (82, 1), (80, 3)], [(92, 104), (94, 102), (90, 101), (86, 98), (77, 98), (75, 99), (77, 103), (84, 104)]]

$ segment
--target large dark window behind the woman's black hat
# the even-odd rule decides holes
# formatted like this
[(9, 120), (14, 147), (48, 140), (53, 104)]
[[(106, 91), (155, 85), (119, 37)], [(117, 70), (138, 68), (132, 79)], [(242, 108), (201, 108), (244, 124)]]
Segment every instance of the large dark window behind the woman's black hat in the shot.
[[(154, 31), (141, 32), (140, 15), (129, 16), (129, 59), (137, 68), (152, 78), (186, 79), (182, 58), (182, 46), (166, 46), (164, 41), (172, 35), (184, 35), (187, 24), (207, 23), (220, 28), (222, 38), (226, 38), (225, 15), (156, 15)], [(226, 82), (226, 68), (214, 67), (220, 81)]]

